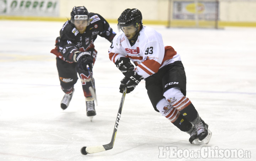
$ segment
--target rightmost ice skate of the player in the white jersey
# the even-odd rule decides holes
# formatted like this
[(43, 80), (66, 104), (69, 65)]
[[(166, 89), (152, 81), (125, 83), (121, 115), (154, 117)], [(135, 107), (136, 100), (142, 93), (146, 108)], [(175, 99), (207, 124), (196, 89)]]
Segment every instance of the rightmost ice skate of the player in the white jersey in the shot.
[(210, 138), (212, 137), (212, 132), (208, 129), (208, 125), (204, 123), (204, 121), (201, 119), (201, 121), (197, 125), (195, 125), (195, 128), (197, 130), (199, 141), (204, 144), (208, 144)]

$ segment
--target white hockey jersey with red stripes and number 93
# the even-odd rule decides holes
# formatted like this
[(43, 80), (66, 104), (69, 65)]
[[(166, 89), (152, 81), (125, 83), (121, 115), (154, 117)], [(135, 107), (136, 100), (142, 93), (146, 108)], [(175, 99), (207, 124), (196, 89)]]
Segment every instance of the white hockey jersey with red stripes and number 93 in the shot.
[(124, 33), (117, 34), (108, 50), (114, 63), (120, 57), (128, 57), (136, 65), (135, 71), (144, 78), (157, 73), (163, 66), (181, 61), (180, 55), (171, 47), (164, 47), (162, 36), (153, 28), (143, 26), (138, 39), (130, 45)]

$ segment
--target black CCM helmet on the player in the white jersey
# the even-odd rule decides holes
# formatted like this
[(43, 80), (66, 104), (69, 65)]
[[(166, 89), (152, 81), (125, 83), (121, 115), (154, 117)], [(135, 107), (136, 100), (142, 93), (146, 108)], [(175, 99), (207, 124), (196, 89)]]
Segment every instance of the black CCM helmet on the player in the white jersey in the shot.
[(130, 25), (138, 27), (139, 23), (142, 26), (142, 13), (138, 9), (126, 9), (122, 12), (117, 21), (119, 27)]

